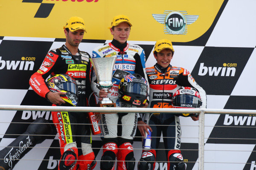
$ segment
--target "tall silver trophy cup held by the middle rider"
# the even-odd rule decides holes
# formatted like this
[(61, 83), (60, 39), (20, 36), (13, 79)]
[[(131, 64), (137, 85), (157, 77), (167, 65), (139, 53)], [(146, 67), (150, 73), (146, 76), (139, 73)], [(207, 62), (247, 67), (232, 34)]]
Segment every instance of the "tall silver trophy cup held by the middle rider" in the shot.
[[(117, 57), (98, 57), (90, 59), (97, 76), (97, 83), (93, 83), (97, 85), (97, 88), (99, 88), (99, 90), (103, 89), (108, 92), (108, 90), (112, 88), (112, 74), (116, 58)], [(102, 100), (99, 100), (98, 102), (98, 104), (108, 103), (113, 103), (113, 101), (109, 97), (103, 97)]]

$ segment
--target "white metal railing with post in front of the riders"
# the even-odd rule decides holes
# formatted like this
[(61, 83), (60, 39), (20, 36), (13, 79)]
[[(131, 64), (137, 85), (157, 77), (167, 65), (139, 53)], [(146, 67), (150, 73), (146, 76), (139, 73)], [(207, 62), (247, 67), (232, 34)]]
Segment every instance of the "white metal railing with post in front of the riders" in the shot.
[(65, 107), (65, 106), (29, 106), (29, 105), (0, 105), (0, 110), (8, 111), (75, 111), (75, 112), (119, 112), (119, 113), (198, 113), (198, 169), (204, 170), (204, 114), (254, 114), (256, 110), (234, 109), (199, 109), (199, 108), (99, 108), (99, 107)]

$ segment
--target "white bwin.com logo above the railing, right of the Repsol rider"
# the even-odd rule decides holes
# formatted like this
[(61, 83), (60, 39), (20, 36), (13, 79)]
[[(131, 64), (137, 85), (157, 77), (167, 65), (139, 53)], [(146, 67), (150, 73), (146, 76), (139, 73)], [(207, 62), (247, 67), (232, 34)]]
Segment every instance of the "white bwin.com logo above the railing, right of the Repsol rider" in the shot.
[(209, 72), (209, 76), (218, 76), (221, 73), (221, 76), (235, 76), (236, 73), (236, 63), (223, 63), (224, 67), (206, 67), (204, 63), (200, 63), (200, 68), (198, 75), (204, 76)]

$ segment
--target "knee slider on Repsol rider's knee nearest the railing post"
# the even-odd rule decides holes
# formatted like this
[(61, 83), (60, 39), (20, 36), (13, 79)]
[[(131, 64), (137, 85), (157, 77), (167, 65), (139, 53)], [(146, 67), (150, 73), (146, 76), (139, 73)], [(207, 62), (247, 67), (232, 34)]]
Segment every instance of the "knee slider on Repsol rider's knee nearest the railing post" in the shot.
[(186, 163), (184, 163), (183, 156), (180, 153), (170, 155), (169, 161), (171, 170), (186, 170)]

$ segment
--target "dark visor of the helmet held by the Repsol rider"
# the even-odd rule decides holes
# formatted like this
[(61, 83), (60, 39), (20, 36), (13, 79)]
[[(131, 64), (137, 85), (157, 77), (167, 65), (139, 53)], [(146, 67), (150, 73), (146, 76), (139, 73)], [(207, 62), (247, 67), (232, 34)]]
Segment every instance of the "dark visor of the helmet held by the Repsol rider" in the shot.
[(173, 106), (186, 108), (199, 108), (202, 105), (201, 103), (201, 99), (189, 94), (177, 95), (172, 100)]

